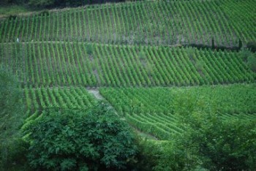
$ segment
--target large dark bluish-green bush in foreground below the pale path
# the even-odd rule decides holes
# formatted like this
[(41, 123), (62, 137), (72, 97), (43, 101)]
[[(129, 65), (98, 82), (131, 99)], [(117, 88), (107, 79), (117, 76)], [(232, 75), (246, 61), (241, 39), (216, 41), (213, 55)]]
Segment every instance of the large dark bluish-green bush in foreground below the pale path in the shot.
[(31, 167), (44, 170), (124, 170), (135, 137), (104, 103), (90, 110), (46, 110), (29, 125)]

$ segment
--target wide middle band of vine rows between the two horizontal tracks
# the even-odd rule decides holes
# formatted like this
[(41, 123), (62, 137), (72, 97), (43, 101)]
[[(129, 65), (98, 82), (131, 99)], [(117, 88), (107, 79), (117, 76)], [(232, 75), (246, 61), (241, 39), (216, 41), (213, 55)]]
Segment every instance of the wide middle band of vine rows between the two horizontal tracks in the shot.
[(23, 85), (195, 86), (255, 82), (243, 52), (82, 42), (4, 43), (0, 62)]

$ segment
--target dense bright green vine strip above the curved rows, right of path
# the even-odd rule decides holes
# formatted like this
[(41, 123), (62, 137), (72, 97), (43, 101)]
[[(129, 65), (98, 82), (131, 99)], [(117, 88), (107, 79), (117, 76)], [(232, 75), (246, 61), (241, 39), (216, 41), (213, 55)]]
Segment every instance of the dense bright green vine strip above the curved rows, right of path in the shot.
[[(184, 88), (100, 88), (119, 113), (255, 113), (255, 84)], [(188, 103), (187, 103), (188, 102)], [(222, 105), (219, 105), (222, 104)]]

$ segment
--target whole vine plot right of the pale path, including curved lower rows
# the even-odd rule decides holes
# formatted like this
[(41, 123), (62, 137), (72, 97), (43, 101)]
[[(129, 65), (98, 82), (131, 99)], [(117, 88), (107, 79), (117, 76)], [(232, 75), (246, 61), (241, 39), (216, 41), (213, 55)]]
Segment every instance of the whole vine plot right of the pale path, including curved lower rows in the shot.
[(100, 88), (116, 111), (161, 140), (180, 133), (179, 115), (218, 113), (223, 119), (256, 119), (255, 84), (188, 88)]

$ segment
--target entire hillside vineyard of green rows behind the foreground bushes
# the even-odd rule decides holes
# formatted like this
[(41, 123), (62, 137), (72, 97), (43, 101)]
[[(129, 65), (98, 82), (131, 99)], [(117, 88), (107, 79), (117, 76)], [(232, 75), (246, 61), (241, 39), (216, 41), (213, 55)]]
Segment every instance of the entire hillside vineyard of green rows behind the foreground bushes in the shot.
[[(91, 111), (101, 110), (91, 108), (104, 104), (113, 118), (159, 147), (189, 132), (192, 123), (182, 121), (189, 116), (206, 125), (195, 132), (209, 131), (202, 121), (207, 117), (208, 123), (239, 123), (231, 128), (235, 136), (237, 128), (247, 128), (245, 123), (253, 127), (256, 121), (255, 7), (255, 0), (146, 0), (0, 18), (0, 69), (18, 80), (26, 110), (23, 128), (53, 110), (94, 116)], [(106, 110), (102, 113), (103, 128), (108, 125), (116, 132)], [(218, 122), (211, 122), (211, 115)], [(103, 140), (105, 132), (98, 133)]]

